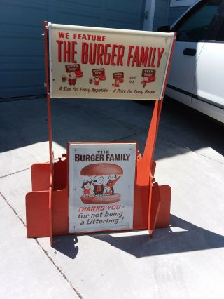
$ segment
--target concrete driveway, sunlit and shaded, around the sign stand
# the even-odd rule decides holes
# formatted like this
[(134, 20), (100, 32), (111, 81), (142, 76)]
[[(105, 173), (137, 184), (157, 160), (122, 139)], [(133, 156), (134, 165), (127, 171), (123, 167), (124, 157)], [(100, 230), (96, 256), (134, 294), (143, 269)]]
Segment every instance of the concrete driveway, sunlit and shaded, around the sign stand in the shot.
[[(153, 103), (52, 100), (55, 157), (68, 141), (139, 141)], [(172, 187), (171, 226), (27, 239), (30, 166), (48, 161), (44, 98), (0, 102), (0, 298), (223, 298), (223, 125), (165, 99), (156, 180)]]

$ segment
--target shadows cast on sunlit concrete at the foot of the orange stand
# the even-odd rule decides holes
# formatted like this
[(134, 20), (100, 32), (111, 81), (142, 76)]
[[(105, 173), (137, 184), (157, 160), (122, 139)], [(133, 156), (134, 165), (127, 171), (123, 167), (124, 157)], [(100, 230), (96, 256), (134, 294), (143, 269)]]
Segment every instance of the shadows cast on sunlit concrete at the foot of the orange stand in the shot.
[[(183, 253), (189, 251), (201, 251), (224, 247), (224, 237), (220, 234), (204, 230), (181, 218), (171, 215), (170, 227), (155, 230), (155, 235), (150, 238), (148, 234), (130, 236), (124, 233), (91, 234), (90, 237), (107, 242), (136, 258), (144, 258), (153, 255), (165, 255), (171, 253)], [(76, 258), (78, 254), (78, 239), (76, 236), (54, 237), (54, 246), (69, 258)], [(81, 250), (81, 248), (79, 248)]]

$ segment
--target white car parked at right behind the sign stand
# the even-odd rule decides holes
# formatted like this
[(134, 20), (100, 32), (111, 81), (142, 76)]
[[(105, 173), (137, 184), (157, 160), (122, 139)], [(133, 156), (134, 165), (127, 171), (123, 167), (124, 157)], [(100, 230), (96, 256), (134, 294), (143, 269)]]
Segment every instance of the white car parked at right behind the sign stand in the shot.
[(166, 94), (224, 123), (224, 0), (199, 1), (177, 32)]

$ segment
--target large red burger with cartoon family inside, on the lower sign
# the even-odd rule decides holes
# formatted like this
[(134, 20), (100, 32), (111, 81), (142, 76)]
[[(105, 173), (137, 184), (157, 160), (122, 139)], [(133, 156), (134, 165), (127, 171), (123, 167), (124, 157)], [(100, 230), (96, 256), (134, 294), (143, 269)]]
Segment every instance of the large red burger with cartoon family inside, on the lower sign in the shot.
[(123, 175), (123, 168), (117, 164), (96, 163), (83, 167), (80, 171), (89, 180), (83, 180), (83, 194), (80, 199), (84, 204), (109, 204), (120, 201), (120, 193), (115, 192), (115, 185)]

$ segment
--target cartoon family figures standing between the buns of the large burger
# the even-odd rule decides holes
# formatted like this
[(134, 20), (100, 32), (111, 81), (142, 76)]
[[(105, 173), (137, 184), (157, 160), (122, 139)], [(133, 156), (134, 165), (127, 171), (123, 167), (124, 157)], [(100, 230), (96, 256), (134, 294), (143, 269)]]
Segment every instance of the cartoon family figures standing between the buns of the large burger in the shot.
[(83, 185), (83, 196), (89, 197), (94, 196), (111, 196), (114, 195), (114, 185), (120, 179), (120, 175), (109, 175), (106, 185), (104, 185), (104, 177), (102, 175), (96, 175), (92, 180), (84, 180)]

